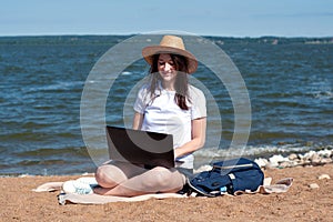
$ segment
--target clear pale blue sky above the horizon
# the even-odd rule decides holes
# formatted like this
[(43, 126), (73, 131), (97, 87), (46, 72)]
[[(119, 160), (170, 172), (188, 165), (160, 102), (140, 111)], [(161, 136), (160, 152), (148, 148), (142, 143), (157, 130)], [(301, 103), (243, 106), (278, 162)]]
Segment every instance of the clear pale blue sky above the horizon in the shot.
[(0, 36), (333, 37), (333, 0), (0, 0)]

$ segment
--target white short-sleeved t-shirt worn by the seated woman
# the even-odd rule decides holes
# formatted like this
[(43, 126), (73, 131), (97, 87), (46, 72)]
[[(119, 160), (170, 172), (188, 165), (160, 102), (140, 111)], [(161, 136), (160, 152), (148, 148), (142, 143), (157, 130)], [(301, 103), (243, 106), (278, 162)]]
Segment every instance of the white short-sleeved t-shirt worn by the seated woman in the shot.
[[(167, 91), (159, 84), (151, 98), (150, 87), (143, 85), (134, 103), (134, 110), (144, 115), (141, 130), (168, 133), (173, 135), (173, 148), (176, 149), (191, 141), (191, 121), (206, 117), (205, 97), (201, 90), (189, 84), (189, 110), (182, 110), (174, 101), (175, 91)], [(193, 169), (193, 154), (178, 158), (182, 164), (176, 167)]]

